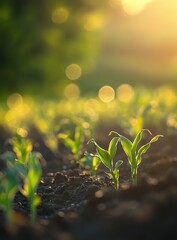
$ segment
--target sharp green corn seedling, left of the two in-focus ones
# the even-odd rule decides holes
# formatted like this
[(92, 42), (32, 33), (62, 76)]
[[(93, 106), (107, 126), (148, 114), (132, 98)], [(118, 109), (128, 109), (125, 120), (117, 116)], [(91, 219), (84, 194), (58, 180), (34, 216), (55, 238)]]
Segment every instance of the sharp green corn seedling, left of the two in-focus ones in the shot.
[(117, 144), (119, 138), (114, 137), (108, 146), (108, 150), (101, 148), (94, 139), (91, 139), (89, 142), (92, 142), (96, 147), (97, 156), (100, 158), (101, 162), (105, 167), (109, 169), (109, 172), (106, 173), (110, 179), (113, 181), (114, 187), (119, 189), (119, 167), (123, 163), (123, 161), (118, 160), (115, 164), (113, 162), (113, 158), (117, 152)]

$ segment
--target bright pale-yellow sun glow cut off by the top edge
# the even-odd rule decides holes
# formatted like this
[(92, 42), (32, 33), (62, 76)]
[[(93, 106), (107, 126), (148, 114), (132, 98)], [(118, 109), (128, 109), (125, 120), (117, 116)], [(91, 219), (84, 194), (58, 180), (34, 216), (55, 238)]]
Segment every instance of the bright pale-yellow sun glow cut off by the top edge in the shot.
[(122, 0), (122, 7), (128, 15), (140, 13), (153, 0)]

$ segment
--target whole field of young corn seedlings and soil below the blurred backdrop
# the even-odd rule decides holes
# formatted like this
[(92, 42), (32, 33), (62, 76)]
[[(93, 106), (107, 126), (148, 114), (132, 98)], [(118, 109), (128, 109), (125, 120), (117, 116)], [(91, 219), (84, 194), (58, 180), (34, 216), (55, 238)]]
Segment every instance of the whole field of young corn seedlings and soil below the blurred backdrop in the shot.
[(10, 95), (0, 103), (0, 239), (176, 239), (176, 110), (167, 85), (72, 101)]

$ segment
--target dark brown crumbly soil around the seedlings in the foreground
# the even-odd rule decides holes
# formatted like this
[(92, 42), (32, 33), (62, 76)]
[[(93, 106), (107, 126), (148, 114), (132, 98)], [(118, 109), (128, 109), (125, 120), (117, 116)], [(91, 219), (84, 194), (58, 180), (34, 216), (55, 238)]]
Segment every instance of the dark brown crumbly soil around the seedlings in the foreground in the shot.
[[(4, 151), (9, 148), (4, 144), (9, 136), (1, 133)], [(92, 178), (42, 146), (46, 165), (38, 187), (42, 201), (37, 222), (30, 224), (28, 201), (17, 193), (13, 222), (5, 224), (0, 212), (1, 240), (177, 239), (177, 136), (165, 136), (148, 150), (139, 167), (137, 186), (131, 184), (130, 169), (120, 149), (119, 159), (124, 164), (119, 191), (101, 166), (98, 177)]]

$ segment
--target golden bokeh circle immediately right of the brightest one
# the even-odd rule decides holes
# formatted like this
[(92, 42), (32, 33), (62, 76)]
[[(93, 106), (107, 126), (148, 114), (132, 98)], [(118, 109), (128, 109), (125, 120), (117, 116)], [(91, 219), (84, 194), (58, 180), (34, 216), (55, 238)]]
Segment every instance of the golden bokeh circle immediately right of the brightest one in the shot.
[(121, 102), (129, 102), (134, 94), (134, 89), (129, 84), (122, 84), (117, 88), (117, 97)]

